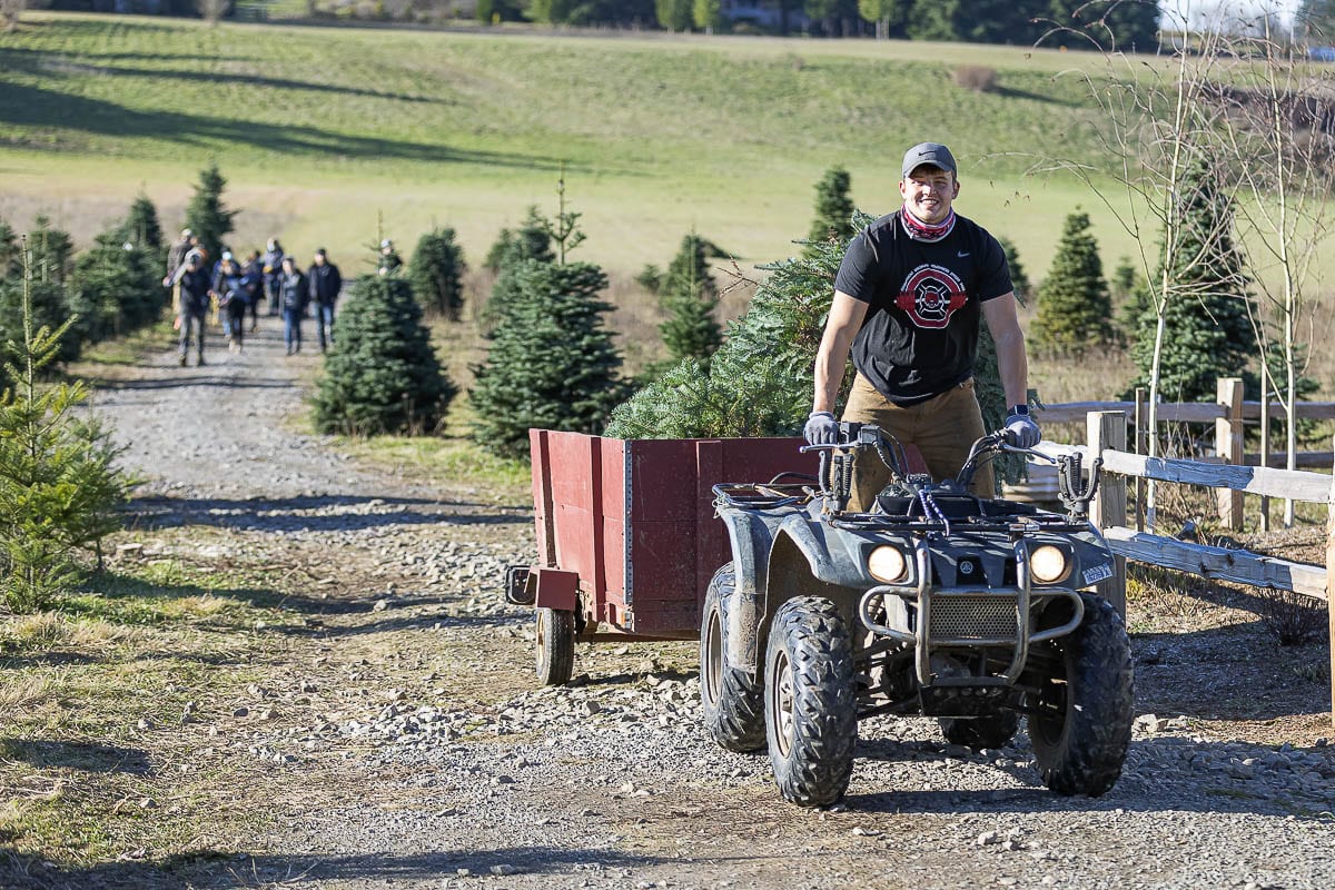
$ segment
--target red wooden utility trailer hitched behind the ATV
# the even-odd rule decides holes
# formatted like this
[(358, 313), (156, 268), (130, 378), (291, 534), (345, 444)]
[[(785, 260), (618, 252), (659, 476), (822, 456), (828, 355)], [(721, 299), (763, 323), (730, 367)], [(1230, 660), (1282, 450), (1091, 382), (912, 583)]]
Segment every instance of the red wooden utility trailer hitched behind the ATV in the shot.
[[(713, 486), (810, 474), (801, 439), (607, 439), (530, 430), (538, 560), (506, 599), (533, 604), (538, 678), (570, 679), (577, 640), (697, 639), (705, 590), (732, 559)], [(605, 630), (599, 632), (599, 626)]]

